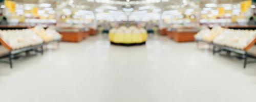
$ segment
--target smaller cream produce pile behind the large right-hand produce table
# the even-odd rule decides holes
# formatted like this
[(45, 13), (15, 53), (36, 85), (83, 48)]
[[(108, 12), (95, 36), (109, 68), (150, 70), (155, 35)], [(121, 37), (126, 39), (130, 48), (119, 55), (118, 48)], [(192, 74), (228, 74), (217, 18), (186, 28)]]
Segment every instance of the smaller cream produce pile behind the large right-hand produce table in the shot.
[(212, 42), (215, 37), (217, 37), (218, 35), (220, 35), (223, 32), (224, 28), (217, 26), (212, 28), (211, 30), (208, 28), (205, 28), (203, 30), (201, 30), (200, 32), (198, 32), (195, 35), (195, 38), (197, 40), (202, 40), (202, 41), (206, 41), (206, 42)]

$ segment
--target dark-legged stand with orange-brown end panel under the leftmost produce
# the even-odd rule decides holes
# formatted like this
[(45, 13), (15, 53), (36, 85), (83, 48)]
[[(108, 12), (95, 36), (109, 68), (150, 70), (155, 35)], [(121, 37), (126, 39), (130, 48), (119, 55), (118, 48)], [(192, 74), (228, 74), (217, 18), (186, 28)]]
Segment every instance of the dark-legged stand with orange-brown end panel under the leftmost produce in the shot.
[(6, 55), (3, 55), (0, 57), (0, 59), (2, 58), (9, 58), (9, 64), (10, 67), (13, 67), (13, 58), (15, 55), (20, 54), (20, 53), (26, 53), (28, 54), (30, 51), (35, 51), (36, 53), (41, 53), (41, 55), (44, 54), (44, 48), (43, 48), (43, 44), (37, 44), (37, 45), (32, 45), (32, 46), (28, 46), (28, 47), (24, 47), (24, 48), (20, 48), (20, 49), (12, 49), (2, 38), (0, 38), (0, 43), (2, 43), (2, 45), (8, 49), (9, 53)]

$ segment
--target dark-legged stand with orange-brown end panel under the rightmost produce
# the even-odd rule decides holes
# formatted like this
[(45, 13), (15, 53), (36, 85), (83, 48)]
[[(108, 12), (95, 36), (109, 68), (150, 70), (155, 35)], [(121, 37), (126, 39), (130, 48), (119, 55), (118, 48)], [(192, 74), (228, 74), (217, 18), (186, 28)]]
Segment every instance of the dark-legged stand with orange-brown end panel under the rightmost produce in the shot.
[(223, 46), (219, 44), (213, 44), (214, 48), (212, 49), (213, 54), (221, 53), (222, 51), (226, 51), (227, 55), (230, 56), (230, 53), (236, 53), (242, 55), (242, 59), (244, 60), (244, 68), (246, 68), (248, 58), (256, 59), (255, 56), (248, 54), (247, 51), (256, 43), (256, 39), (254, 39), (248, 46), (246, 46), (244, 49), (237, 49), (232, 48), (228, 46)]

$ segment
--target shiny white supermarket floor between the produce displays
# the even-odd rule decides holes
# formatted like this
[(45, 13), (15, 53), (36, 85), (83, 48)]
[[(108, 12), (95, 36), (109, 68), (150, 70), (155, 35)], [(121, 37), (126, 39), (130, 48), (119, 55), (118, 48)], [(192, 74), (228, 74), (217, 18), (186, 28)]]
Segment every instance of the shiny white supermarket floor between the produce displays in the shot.
[(1, 102), (255, 102), (256, 64), (212, 56), (194, 42), (151, 37), (110, 45), (104, 36), (62, 42), (44, 56), (0, 64)]

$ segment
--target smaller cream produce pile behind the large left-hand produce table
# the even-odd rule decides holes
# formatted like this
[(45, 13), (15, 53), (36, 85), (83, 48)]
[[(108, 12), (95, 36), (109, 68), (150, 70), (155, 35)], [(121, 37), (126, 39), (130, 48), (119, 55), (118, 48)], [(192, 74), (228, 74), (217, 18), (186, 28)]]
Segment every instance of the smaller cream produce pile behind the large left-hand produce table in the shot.
[(61, 35), (52, 28), (48, 28), (47, 30), (45, 30), (40, 26), (36, 26), (35, 28), (33, 28), (33, 31), (38, 36), (40, 36), (44, 40), (44, 42), (50, 42), (53, 40), (61, 39)]

